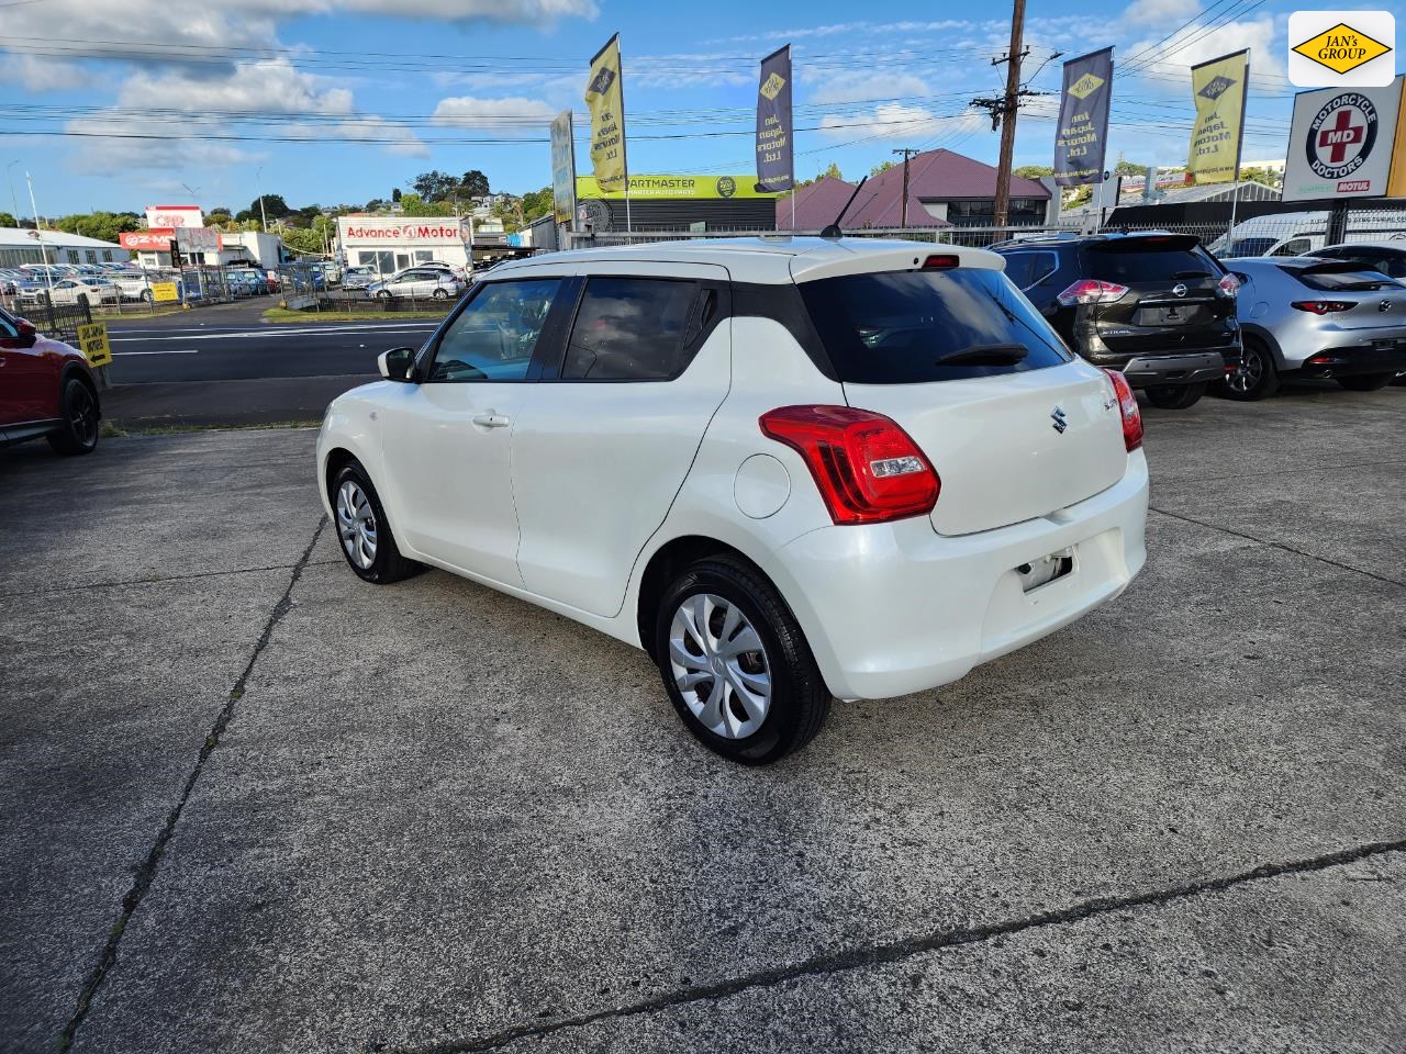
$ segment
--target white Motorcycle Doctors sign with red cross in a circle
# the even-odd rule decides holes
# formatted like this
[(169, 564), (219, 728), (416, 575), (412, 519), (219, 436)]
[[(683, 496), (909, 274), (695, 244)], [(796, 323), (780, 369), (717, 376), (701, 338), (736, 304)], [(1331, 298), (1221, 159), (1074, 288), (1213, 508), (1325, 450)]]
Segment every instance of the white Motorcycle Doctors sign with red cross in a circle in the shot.
[(1402, 77), (1386, 87), (1322, 89), (1294, 100), (1284, 200), (1379, 198), (1392, 174)]

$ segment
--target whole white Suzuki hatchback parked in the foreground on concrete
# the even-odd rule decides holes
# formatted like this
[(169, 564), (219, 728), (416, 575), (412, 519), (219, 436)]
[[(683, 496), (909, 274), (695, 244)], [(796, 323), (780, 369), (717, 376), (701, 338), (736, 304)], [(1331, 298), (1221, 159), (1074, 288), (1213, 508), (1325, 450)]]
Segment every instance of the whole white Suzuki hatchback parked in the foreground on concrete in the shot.
[(1146, 558), (1142, 419), (976, 249), (759, 239), (503, 264), (336, 399), (352, 569), (430, 564), (644, 648), (766, 763), (956, 680)]

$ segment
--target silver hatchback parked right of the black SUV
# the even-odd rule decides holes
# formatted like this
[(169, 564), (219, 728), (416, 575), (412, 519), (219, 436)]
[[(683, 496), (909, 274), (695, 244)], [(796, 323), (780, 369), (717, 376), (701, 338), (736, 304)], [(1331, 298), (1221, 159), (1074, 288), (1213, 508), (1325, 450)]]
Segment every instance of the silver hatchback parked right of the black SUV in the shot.
[(1355, 260), (1222, 260), (1240, 280), (1244, 350), (1225, 379), (1232, 399), (1264, 399), (1285, 374), (1331, 377), (1354, 392), (1406, 372), (1406, 288)]

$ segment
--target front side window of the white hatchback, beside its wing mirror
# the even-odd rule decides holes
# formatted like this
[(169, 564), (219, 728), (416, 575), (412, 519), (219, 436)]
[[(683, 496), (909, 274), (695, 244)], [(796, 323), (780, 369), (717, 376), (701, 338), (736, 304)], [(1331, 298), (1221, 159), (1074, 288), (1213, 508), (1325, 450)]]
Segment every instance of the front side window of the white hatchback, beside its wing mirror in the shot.
[(560, 278), (485, 285), (444, 332), (426, 379), (524, 379), (560, 287)]

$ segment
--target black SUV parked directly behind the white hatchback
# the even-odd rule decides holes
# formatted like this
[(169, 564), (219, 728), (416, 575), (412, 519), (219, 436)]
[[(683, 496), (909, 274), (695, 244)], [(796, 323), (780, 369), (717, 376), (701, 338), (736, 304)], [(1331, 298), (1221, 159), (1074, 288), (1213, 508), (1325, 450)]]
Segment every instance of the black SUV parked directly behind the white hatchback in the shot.
[(1074, 351), (1121, 370), (1153, 406), (1191, 406), (1240, 363), (1239, 284), (1192, 235), (1050, 235), (991, 249)]

